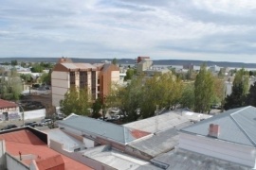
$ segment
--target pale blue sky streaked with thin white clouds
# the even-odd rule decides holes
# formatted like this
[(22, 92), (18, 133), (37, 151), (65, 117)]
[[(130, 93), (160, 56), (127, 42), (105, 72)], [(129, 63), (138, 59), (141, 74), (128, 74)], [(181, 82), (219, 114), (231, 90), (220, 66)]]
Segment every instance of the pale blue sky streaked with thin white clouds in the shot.
[(256, 63), (253, 0), (1, 0), (0, 58)]

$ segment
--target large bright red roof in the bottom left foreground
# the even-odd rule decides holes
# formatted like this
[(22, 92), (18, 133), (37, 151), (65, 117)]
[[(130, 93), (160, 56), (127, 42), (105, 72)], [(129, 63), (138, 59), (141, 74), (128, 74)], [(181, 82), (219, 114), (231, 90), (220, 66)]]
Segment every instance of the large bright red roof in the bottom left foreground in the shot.
[[(0, 134), (0, 140), (6, 141), (7, 152), (13, 157), (19, 157), (19, 153), (21, 153), (22, 156), (33, 156), (33, 159), (24, 159), (22, 161), (27, 165), (29, 165), (33, 160), (35, 160), (36, 162), (40, 162), (39, 164), (41, 165), (47, 163), (58, 164), (60, 163), (60, 160), (58, 160), (58, 156), (60, 155), (64, 161), (65, 170), (92, 169), (79, 161), (74, 161), (68, 157), (65, 157), (64, 155), (61, 155), (55, 150), (50, 149), (47, 144), (41, 141), (28, 129), (21, 129), (19, 131)], [(57, 160), (52, 161), (52, 158), (57, 158)]]

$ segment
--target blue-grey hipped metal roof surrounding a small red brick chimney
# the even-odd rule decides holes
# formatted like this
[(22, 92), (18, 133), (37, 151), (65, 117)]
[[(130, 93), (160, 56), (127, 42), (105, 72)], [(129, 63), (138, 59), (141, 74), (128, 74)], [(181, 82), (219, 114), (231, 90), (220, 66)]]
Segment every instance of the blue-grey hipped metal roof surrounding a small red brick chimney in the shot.
[(227, 110), (209, 119), (185, 127), (181, 132), (208, 136), (210, 124), (220, 126), (219, 140), (256, 146), (256, 108), (248, 106)]

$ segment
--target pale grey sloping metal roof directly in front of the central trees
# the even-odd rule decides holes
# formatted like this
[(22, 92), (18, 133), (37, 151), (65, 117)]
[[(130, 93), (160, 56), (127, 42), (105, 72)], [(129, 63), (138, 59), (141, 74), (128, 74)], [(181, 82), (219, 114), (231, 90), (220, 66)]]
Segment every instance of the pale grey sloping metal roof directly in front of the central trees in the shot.
[(124, 124), (123, 127), (132, 127), (142, 131), (155, 133), (168, 128), (177, 127), (185, 122), (190, 122), (189, 119), (174, 112), (168, 112), (136, 122)]

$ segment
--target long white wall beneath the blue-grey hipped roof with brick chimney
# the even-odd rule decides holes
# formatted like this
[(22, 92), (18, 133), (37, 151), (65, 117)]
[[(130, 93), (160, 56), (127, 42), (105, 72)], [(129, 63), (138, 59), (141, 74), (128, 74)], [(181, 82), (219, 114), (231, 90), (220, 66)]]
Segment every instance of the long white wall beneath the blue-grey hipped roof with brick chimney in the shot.
[(242, 144), (233, 144), (204, 136), (187, 133), (179, 134), (180, 148), (208, 155), (225, 161), (255, 166), (256, 148)]

